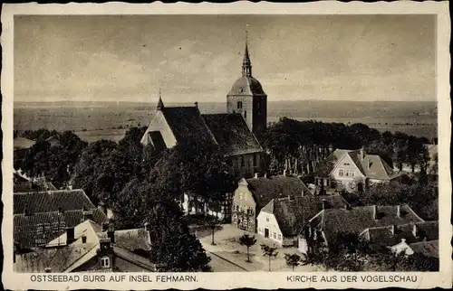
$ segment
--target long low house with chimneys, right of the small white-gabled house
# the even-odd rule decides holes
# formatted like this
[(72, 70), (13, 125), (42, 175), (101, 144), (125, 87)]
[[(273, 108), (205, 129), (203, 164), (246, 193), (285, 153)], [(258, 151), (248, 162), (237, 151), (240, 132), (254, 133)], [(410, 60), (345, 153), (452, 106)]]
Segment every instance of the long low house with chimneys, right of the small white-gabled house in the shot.
[[(397, 228), (399, 225), (423, 222), (407, 205), (371, 205), (351, 209), (324, 209), (308, 221), (299, 233), (298, 249), (306, 253), (313, 244), (329, 246), (341, 233), (365, 236), (366, 230)], [(362, 233), (363, 232), (363, 233)]]

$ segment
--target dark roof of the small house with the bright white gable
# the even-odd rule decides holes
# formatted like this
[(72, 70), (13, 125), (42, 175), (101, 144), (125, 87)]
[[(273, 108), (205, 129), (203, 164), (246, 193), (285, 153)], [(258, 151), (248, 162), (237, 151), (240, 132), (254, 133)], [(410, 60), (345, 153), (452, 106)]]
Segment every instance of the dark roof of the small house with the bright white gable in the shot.
[(323, 210), (323, 201), (327, 209), (346, 208), (349, 203), (342, 195), (304, 195), (294, 198), (273, 199), (261, 211), (275, 215), (284, 236), (294, 236), (304, 227), (306, 221)]

